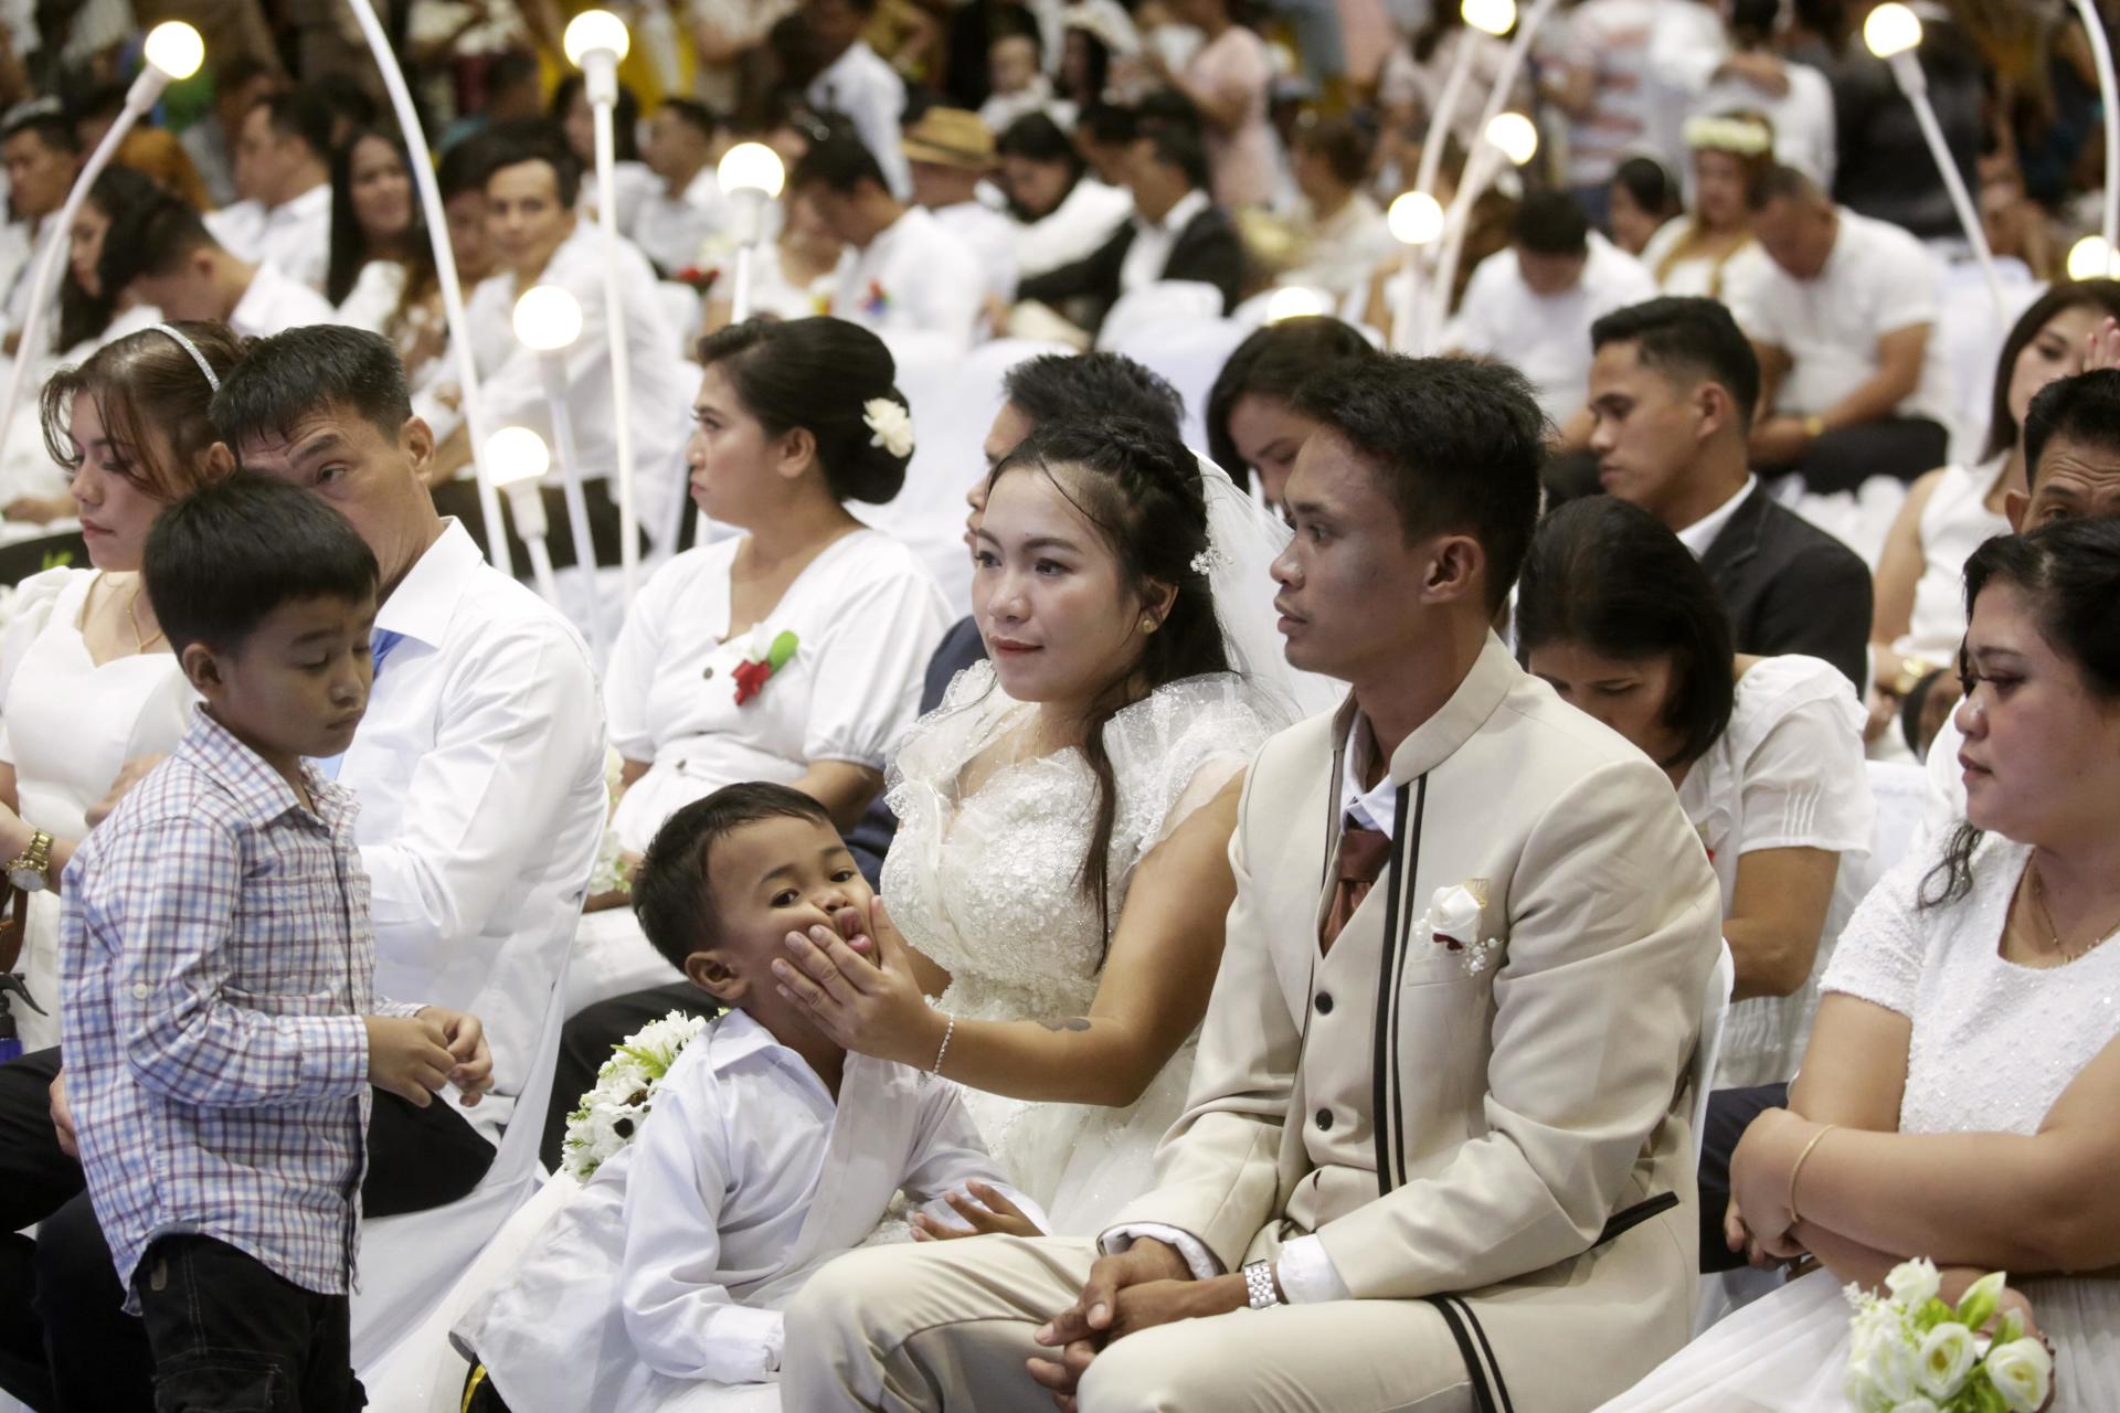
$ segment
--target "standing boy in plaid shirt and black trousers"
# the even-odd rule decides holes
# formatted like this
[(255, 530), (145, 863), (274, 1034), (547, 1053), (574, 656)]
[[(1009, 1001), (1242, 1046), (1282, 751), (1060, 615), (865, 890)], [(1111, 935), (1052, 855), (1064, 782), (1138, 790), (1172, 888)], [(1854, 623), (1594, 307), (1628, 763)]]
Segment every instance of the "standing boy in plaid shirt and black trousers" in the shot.
[(375, 557), (318, 498), (237, 475), (148, 534), (146, 593), (206, 699), (74, 854), (68, 1097), (159, 1409), (358, 1409), (348, 1356), (369, 1087), (466, 1104), (475, 1017), (373, 994), (354, 799), (303, 756), (367, 705)]

